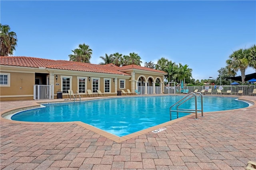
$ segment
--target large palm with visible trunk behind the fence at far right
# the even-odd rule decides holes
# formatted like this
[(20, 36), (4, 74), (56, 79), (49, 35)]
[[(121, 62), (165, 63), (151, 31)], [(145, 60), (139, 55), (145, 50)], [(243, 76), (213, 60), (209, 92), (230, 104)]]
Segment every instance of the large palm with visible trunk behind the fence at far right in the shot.
[(251, 57), (250, 49), (239, 49), (234, 51), (229, 59), (226, 60), (226, 64), (228, 67), (228, 72), (237, 72), (240, 70), (242, 77), (242, 84), (245, 84), (245, 70), (249, 67), (256, 67), (256, 61)]

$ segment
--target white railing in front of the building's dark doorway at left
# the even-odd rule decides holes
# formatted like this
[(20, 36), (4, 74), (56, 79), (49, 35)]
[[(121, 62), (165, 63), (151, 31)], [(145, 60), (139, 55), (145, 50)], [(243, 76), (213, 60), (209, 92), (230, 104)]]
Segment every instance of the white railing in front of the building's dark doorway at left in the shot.
[(34, 85), (34, 100), (54, 99), (53, 85)]

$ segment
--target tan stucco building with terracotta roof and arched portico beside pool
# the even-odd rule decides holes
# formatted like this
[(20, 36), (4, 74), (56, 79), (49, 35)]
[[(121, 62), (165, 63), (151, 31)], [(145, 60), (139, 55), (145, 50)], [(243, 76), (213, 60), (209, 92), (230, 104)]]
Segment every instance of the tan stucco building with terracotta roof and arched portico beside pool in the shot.
[(0, 57), (0, 100), (67, 98), (68, 90), (87, 89), (116, 96), (119, 90), (161, 94), (166, 72), (137, 65), (90, 64), (34, 57)]

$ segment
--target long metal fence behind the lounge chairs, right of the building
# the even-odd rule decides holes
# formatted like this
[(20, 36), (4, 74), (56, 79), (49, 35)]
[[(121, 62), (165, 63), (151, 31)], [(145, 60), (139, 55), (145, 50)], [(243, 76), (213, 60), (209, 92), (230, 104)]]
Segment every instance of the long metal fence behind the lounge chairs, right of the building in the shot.
[[(168, 89), (169, 88), (169, 89)], [(201, 92), (202, 90), (205, 90), (205, 92), (208, 91), (208, 89), (212, 89), (212, 93), (210, 94), (217, 94), (217, 89), (220, 89), (222, 94), (225, 94), (228, 90), (231, 90), (231, 93), (228, 95), (237, 95), (239, 90), (242, 90), (243, 93), (239, 95), (244, 95), (244, 96), (250, 96), (252, 95), (253, 89), (256, 88), (256, 85), (225, 85), (225, 86), (220, 86), (220, 85), (214, 85), (214, 86), (184, 86), (183, 89), (188, 89), (189, 93), (194, 92), (196, 89), (198, 89), (198, 92)], [(181, 87), (176, 86), (170, 86), (170, 87), (165, 87), (164, 88), (164, 93), (165, 94), (177, 94), (177, 90), (180, 92)]]

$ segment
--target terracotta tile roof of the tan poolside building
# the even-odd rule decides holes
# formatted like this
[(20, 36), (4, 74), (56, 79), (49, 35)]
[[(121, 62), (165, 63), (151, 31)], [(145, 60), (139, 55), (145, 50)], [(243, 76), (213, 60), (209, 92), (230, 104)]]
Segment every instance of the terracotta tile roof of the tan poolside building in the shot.
[(66, 60), (50, 60), (50, 59), (40, 59), (35, 57), (0, 57), (1, 65), (8, 65), (8, 66), (22, 66), (22, 67), (46, 67), (52, 69), (59, 69), (59, 70), (75, 70), (75, 71), (85, 71), (85, 72), (99, 72), (99, 73), (107, 73), (107, 74), (123, 74), (129, 75), (122, 70), (128, 69), (138, 69), (138, 70), (147, 70), (153, 72), (160, 72), (165, 73), (160, 70), (154, 70), (151, 68), (146, 68), (137, 65), (128, 65), (118, 67), (114, 64), (90, 64), (90, 63), (80, 63), (74, 61), (66, 61)]

